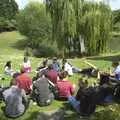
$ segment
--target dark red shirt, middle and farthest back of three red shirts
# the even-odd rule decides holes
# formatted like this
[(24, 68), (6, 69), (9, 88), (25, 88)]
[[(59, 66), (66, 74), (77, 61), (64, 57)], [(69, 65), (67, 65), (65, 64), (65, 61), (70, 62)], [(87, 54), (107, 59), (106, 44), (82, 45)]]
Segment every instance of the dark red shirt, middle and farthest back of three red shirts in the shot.
[(57, 83), (57, 72), (56, 71), (54, 71), (54, 70), (48, 71), (47, 77), (52, 83), (54, 83), (54, 84)]

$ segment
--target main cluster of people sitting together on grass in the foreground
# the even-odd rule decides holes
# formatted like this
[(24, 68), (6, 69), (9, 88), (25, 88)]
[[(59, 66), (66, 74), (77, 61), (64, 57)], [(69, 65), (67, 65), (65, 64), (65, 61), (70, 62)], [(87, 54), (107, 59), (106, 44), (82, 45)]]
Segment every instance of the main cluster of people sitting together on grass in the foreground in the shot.
[[(72, 70), (66, 68), (71, 66)], [(52, 64), (48, 60), (43, 61), (42, 66), (37, 68), (36, 76), (31, 79), (24, 67), (20, 73), (14, 73), (8, 88), (0, 89), (0, 98), (5, 101), (5, 114), (16, 118), (25, 113), (31, 99), (38, 106), (48, 106), (54, 99), (68, 101), (70, 105), (82, 116), (89, 116), (95, 112), (96, 105), (113, 102), (113, 98), (120, 99), (120, 65), (113, 62), (112, 74), (103, 74), (94, 68), (79, 69), (63, 60), (60, 66), (57, 58)], [(72, 71), (72, 72), (71, 72)], [(83, 74), (79, 78), (78, 91), (74, 96), (76, 86), (71, 84), (70, 73)], [(88, 84), (85, 76), (100, 76), (99, 83), (94, 86)]]

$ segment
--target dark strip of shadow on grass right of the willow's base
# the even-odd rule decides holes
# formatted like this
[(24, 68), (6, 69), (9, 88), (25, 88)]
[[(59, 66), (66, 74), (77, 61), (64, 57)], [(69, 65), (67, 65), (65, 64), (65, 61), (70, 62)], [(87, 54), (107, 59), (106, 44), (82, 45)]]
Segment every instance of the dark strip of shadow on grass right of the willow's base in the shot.
[(120, 55), (88, 57), (90, 60), (120, 61)]

